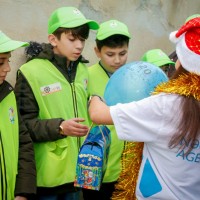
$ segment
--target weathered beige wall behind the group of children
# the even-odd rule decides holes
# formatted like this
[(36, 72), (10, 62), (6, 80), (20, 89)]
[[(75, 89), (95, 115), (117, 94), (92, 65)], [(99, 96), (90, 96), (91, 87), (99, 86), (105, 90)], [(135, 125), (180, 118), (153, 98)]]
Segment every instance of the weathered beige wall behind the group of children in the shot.
[[(75, 6), (99, 23), (109, 19), (126, 23), (132, 35), (128, 61), (139, 60), (152, 48), (171, 53), (174, 45), (168, 40), (169, 33), (188, 16), (200, 13), (200, 0), (0, 0), (0, 30), (16, 40), (47, 42), (48, 17), (62, 6)], [(91, 31), (83, 52), (90, 64), (97, 61), (94, 40)], [(25, 61), (23, 52), (21, 48), (12, 54), (7, 80), (13, 85), (17, 68)]]

